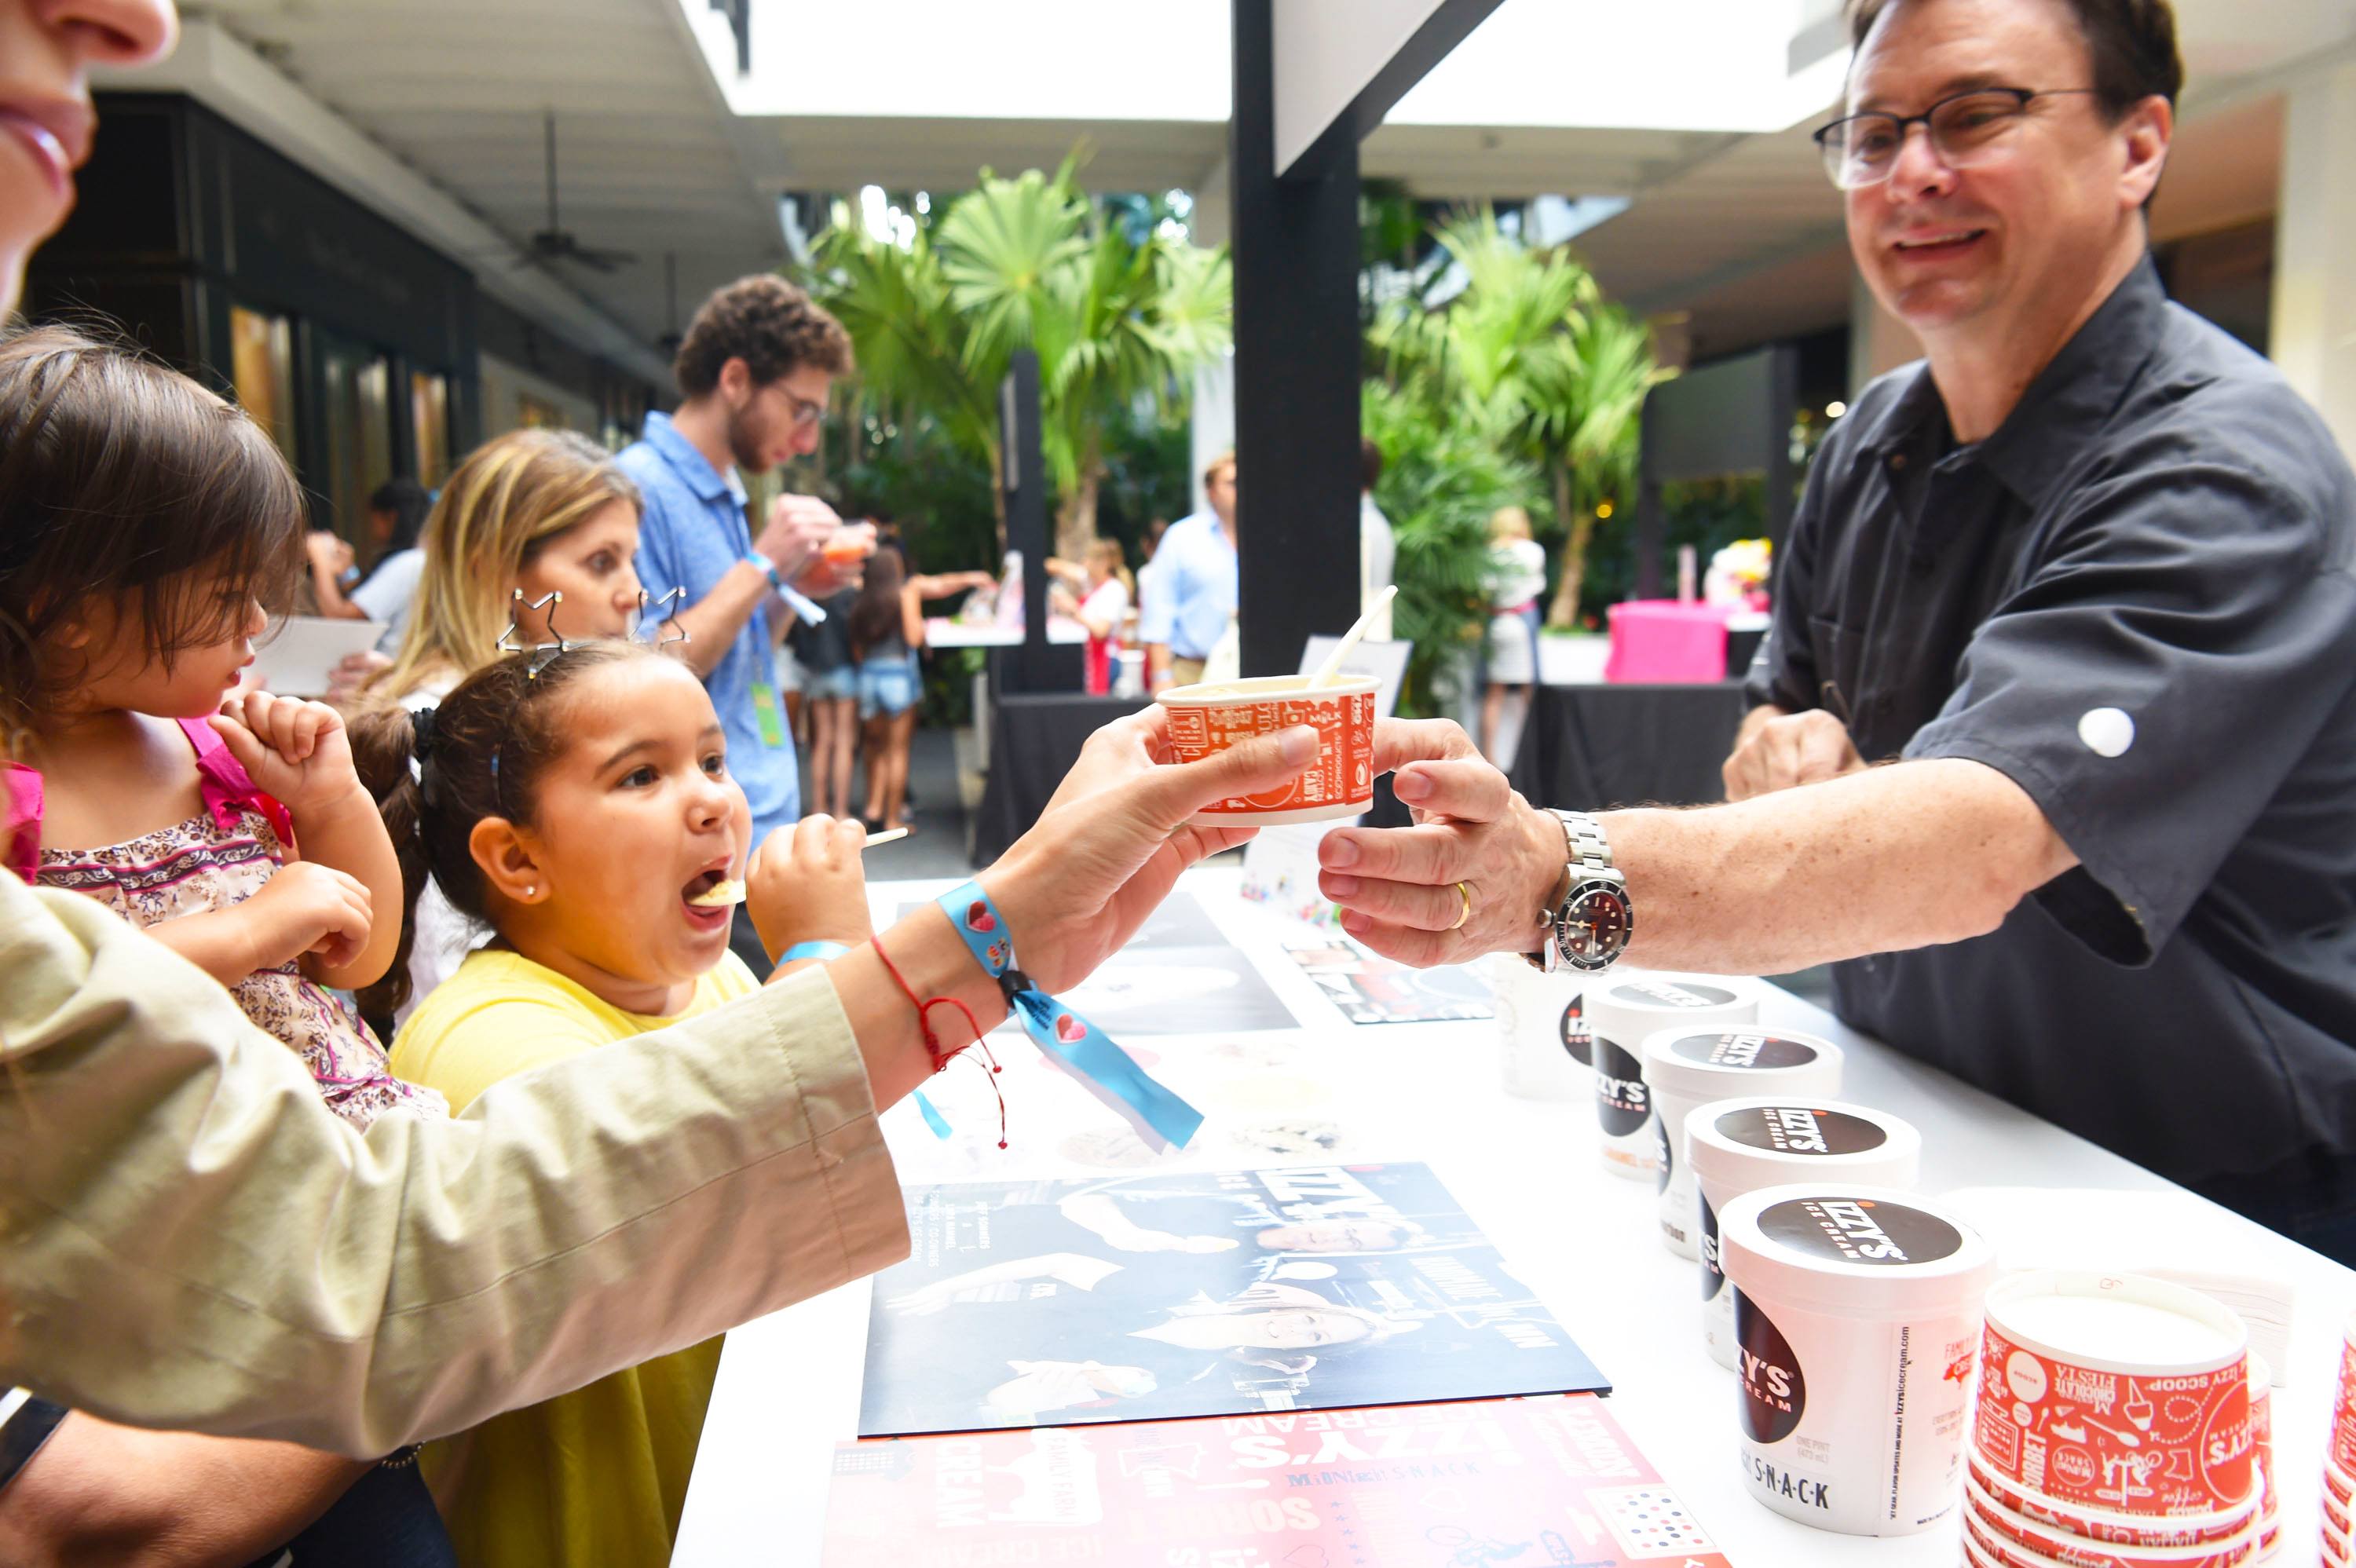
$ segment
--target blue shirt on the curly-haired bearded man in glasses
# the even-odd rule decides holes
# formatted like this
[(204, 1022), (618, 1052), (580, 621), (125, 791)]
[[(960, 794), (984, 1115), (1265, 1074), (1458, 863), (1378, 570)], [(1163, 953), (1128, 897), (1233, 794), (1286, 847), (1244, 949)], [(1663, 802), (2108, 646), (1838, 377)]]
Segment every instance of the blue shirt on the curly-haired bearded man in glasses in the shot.
[[(690, 605), (702, 603), (728, 567), (752, 553), (744, 485), (735, 469), (728, 473), (714, 469), (671, 428), (669, 414), (648, 414), (646, 431), (615, 461), (646, 497), (638, 518), (638, 582), (648, 593), (686, 589)], [(770, 702), (777, 704), (782, 735), (777, 746), (761, 739), (754, 685), (766, 685)], [(775, 697), (777, 657), (766, 600), (704, 676), (704, 690), (712, 692), (721, 730), (728, 732), (728, 772), (752, 800), (752, 841), (759, 845), (770, 829), (801, 819), (801, 770), (794, 763), (794, 732), (785, 723), (785, 702)]]

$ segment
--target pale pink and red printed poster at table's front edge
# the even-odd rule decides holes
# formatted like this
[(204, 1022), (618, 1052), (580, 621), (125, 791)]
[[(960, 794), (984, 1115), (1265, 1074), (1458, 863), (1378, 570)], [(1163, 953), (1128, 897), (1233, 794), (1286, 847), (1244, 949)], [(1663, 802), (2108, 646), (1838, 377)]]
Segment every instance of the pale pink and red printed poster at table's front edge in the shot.
[(1593, 1394), (843, 1443), (825, 1568), (1727, 1568)]

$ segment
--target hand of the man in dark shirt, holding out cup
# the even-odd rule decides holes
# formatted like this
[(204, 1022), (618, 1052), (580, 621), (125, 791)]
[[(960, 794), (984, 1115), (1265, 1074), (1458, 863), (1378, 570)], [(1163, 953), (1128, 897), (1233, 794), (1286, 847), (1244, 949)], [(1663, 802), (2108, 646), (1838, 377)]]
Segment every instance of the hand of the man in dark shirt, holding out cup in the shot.
[(1414, 826), (1336, 829), (1317, 845), (1317, 885), (1343, 930), (1418, 968), (1536, 949), (1538, 911), (1562, 881), (1562, 822), (1447, 718), (1376, 720), (1374, 765)]

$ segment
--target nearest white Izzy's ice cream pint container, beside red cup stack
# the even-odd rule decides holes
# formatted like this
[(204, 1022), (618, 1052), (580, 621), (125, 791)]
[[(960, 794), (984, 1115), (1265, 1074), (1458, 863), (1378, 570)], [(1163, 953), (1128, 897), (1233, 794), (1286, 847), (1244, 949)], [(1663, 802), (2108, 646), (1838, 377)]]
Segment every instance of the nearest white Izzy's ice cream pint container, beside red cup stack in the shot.
[(1746, 1490), (1842, 1535), (1953, 1514), (1996, 1248), (1927, 1198), (1840, 1177), (1748, 1191), (1718, 1220)]

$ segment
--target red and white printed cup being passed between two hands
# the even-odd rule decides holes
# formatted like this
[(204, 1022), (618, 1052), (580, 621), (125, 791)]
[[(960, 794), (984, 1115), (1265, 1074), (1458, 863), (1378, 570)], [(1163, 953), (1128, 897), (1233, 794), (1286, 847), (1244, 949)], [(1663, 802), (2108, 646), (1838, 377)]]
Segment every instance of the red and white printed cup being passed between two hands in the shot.
[(1173, 685), (1157, 702), (1169, 709), (1171, 756), (1197, 763), (1216, 751), (1293, 725), (1317, 727), (1317, 760), (1301, 777), (1258, 796), (1235, 796), (1199, 812), (1197, 826), (1282, 826), (1357, 817), (1374, 805), (1376, 680), (1348, 678), (1310, 687), (1308, 676), (1253, 676)]

